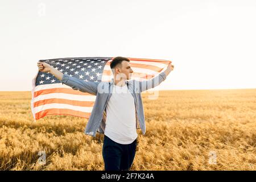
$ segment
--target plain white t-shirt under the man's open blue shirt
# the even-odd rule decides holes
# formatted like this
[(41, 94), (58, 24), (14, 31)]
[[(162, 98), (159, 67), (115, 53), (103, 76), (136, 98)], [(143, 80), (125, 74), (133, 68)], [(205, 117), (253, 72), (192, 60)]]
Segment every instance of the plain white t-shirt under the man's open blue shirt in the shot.
[(138, 137), (134, 98), (127, 85), (113, 84), (113, 92), (106, 105), (104, 134), (114, 142), (130, 144)]

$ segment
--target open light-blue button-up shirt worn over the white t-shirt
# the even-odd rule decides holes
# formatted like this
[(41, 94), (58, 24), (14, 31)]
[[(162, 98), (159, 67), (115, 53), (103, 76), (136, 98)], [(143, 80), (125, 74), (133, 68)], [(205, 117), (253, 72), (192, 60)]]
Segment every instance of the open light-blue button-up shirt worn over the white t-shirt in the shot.
[[(166, 74), (164, 72), (159, 73), (155, 77), (144, 80), (126, 80), (127, 87), (130, 93), (133, 95), (135, 112), (136, 112), (136, 128), (141, 129), (143, 135), (146, 133), (146, 125), (144, 118), (144, 110), (141, 92), (158, 86), (162, 81), (166, 80)], [(71, 77), (64, 74), (62, 84), (71, 86), (73, 90), (79, 90), (81, 92), (87, 92), (96, 96), (92, 113), (90, 114), (88, 123), (85, 127), (85, 134), (96, 137), (96, 133), (104, 133), (106, 126), (106, 105), (112, 96), (112, 89), (114, 80), (90, 82), (82, 81), (79, 78)]]

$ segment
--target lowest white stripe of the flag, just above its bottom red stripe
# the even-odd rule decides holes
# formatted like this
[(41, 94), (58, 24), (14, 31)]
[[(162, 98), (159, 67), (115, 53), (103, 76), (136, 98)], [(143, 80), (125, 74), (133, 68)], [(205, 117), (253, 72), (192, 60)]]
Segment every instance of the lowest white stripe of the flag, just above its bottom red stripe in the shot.
[(45, 104), (42, 106), (35, 107), (35, 113), (38, 113), (46, 109), (72, 109), (72, 110), (82, 111), (85, 113), (91, 113), (93, 107), (73, 106), (69, 104)]

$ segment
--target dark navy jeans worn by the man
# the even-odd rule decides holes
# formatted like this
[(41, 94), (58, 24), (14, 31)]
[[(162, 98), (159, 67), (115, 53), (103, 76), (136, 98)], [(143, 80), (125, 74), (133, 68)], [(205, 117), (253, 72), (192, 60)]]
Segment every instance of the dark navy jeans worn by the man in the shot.
[(137, 139), (130, 144), (120, 144), (104, 135), (102, 155), (105, 171), (130, 170), (136, 153)]

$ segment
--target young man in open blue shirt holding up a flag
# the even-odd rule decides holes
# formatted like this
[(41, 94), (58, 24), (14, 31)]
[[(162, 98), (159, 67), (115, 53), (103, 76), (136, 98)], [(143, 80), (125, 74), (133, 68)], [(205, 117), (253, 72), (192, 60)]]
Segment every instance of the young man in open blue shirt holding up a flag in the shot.
[(126, 57), (110, 63), (114, 78), (110, 82), (84, 82), (61, 73), (47, 63), (38, 62), (41, 72), (49, 72), (74, 90), (96, 95), (85, 134), (104, 133), (102, 156), (105, 170), (129, 170), (137, 146), (137, 129), (146, 132), (141, 92), (158, 86), (174, 69), (171, 63), (159, 75), (146, 81), (130, 80), (133, 69)]

